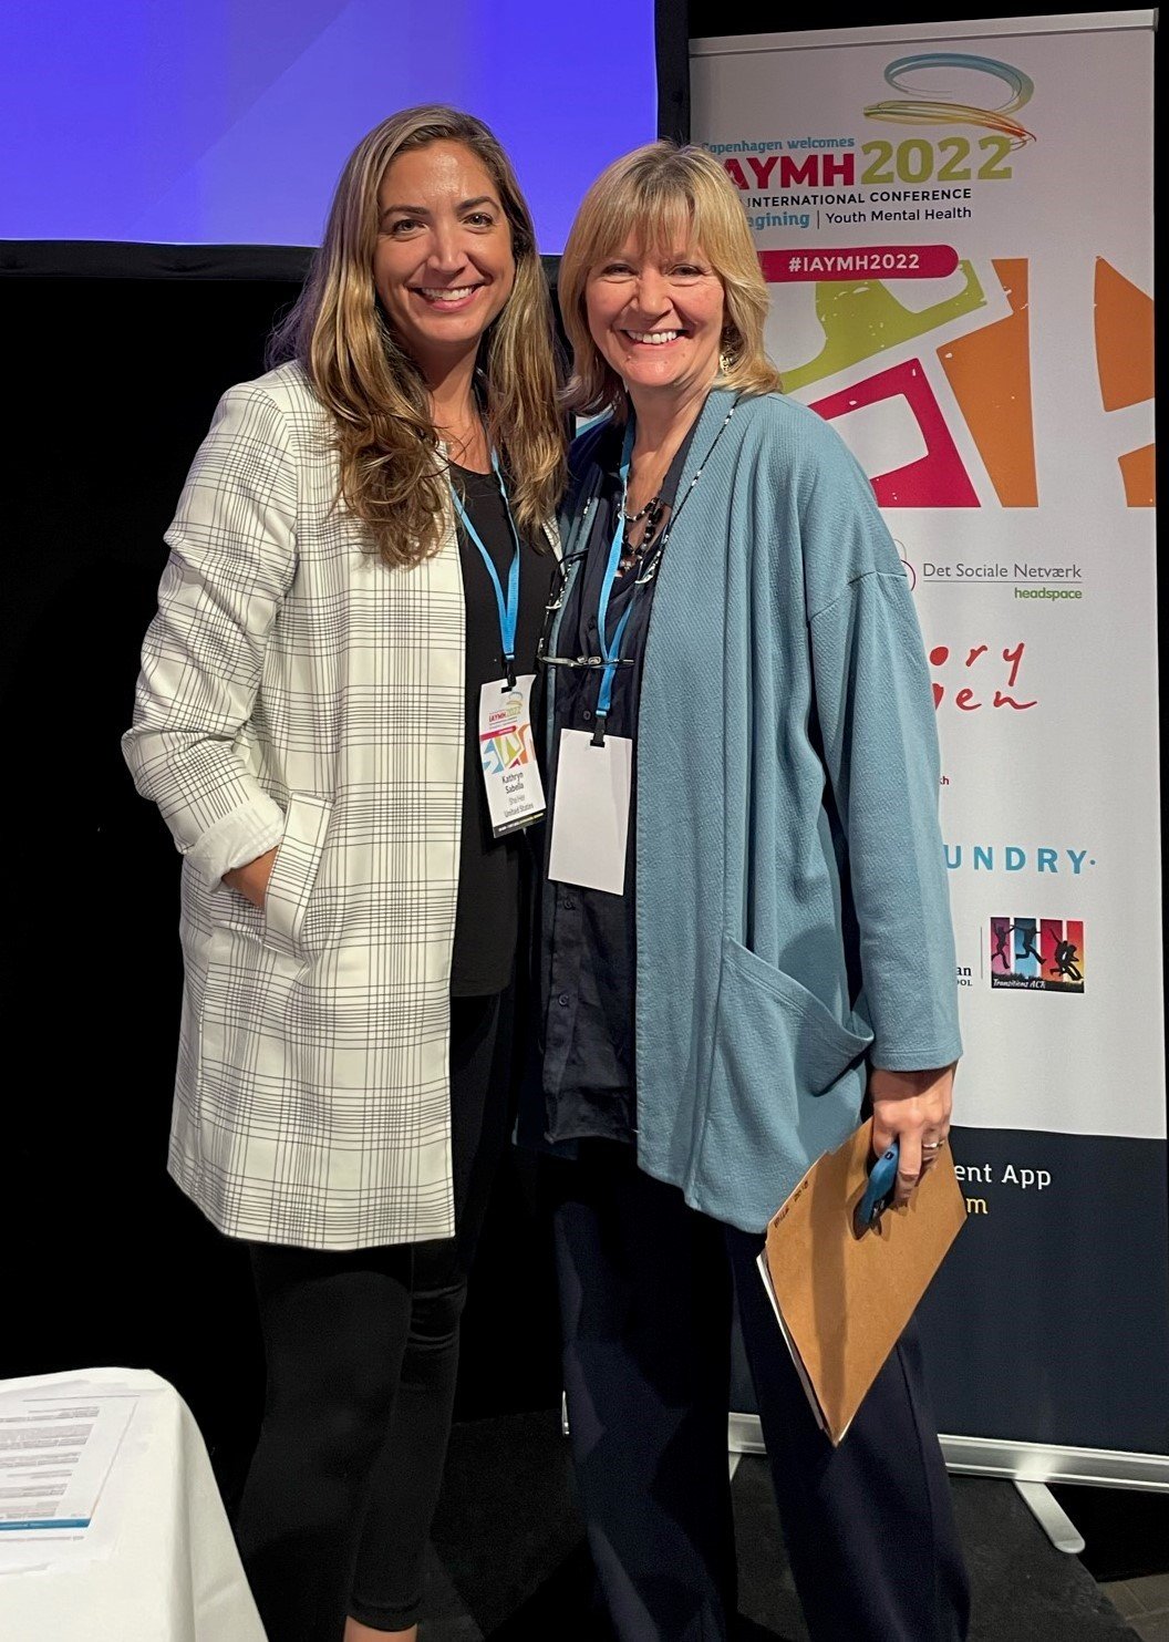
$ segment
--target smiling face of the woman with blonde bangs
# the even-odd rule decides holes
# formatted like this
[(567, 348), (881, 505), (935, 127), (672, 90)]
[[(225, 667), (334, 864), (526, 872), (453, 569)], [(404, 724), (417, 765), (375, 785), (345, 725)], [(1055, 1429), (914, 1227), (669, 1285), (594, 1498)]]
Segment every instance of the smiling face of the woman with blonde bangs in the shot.
[(726, 300), (701, 246), (667, 253), (627, 240), (589, 271), (584, 314), (634, 404), (686, 397), (717, 374)]

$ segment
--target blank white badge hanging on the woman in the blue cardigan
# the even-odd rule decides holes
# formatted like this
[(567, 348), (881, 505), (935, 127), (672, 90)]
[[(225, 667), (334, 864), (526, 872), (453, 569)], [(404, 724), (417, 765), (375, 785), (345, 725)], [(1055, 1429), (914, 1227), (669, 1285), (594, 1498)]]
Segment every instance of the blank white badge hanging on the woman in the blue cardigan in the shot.
[(606, 736), (594, 747), (588, 731), (560, 732), (548, 851), (548, 877), (557, 883), (624, 895), (632, 768), (627, 736)]

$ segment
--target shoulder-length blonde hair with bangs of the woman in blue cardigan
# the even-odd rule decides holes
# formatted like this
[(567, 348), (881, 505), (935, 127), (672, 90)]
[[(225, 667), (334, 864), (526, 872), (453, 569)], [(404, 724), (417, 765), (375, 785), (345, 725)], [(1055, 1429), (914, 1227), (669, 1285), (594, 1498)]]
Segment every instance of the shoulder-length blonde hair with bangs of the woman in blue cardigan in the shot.
[(770, 297), (736, 186), (704, 148), (662, 140), (614, 159), (589, 187), (570, 230), (557, 277), (573, 348), (566, 409), (580, 415), (611, 409), (619, 420), (627, 414), (621, 378), (588, 328), (586, 289), (593, 269), (630, 238), (642, 250), (703, 248), (726, 299), (717, 386), (777, 392), (780, 373), (763, 348)]

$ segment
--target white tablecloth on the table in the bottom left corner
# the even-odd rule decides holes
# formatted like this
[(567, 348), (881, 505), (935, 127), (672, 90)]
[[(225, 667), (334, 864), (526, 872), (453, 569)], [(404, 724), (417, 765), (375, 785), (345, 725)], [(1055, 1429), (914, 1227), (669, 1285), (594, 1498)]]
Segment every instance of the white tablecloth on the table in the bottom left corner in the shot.
[(87, 1529), (67, 1543), (0, 1532), (0, 1642), (264, 1642), (207, 1448), (174, 1386), (146, 1369), (89, 1368), (0, 1381), (8, 1407), (15, 1391), (120, 1399), (133, 1412)]

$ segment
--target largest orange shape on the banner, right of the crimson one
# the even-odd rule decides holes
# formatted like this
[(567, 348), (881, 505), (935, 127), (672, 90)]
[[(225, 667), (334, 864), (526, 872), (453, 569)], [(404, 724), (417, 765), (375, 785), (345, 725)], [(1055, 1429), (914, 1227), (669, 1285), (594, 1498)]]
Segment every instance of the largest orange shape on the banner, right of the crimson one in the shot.
[(1003, 507), (1038, 507), (1026, 258), (993, 261), (1011, 312), (937, 350)]

